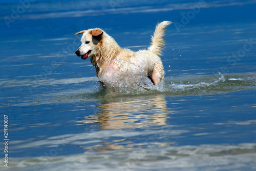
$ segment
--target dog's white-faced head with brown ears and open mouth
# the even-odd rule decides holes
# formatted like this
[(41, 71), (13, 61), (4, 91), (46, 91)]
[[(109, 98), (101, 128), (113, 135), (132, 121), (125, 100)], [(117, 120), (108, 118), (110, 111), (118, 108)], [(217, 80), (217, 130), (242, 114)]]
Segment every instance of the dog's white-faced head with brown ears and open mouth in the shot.
[(76, 55), (81, 56), (81, 59), (86, 60), (89, 57), (94, 56), (97, 53), (97, 45), (102, 39), (103, 30), (101, 29), (89, 29), (80, 31), (77, 34), (82, 34), (82, 45), (77, 49)]

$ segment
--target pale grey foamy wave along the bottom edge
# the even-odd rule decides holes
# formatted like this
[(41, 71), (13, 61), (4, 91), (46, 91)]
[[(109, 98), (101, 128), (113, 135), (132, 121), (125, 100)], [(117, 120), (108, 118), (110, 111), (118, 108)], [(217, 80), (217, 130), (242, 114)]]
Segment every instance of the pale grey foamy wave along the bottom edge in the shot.
[[(12, 158), (1, 170), (253, 170), (255, 143), (203, 144)], [(61, 149), (61, 148), (58, 148)], [(166, 169), (165, 169), (166, 168)]]

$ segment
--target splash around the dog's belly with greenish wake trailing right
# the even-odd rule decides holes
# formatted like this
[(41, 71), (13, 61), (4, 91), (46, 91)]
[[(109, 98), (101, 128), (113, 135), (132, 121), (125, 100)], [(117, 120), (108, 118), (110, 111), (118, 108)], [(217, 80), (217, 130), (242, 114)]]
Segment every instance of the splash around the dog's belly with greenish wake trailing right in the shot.
[(227, 93), (243, 89), (256, 89), (256, 74), (190, 75), (189, 77), (167, 77), (164, 83), (154, 85), (147, 73), (116, 71), (111, 77), (100, 77), (104, 88), (111, 96), (159, 94), (174, 96), (195, 96)]

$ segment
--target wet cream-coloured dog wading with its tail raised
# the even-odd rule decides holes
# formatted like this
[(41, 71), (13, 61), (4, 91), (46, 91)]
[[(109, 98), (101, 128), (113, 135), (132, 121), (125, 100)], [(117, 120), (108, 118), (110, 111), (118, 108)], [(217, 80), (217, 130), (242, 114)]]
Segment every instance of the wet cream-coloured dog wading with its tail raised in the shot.
[[(146, 50), (134, 52), (121, 48), (116, 41), (102, 29), (88, 29), (79, 31), (81, 46), (75, 52), (81, 59), (91, 58), (95, 66), (97, 77), (111, 77), (116, 71), (145, 71), (146, 76), (154, 85), (164, 80), (164, 68), (160, 55), (164, 47), (164, 31), (172, 22), (158, 23), (151, 37), (152, 43)], [(104, 83), (103, 83), (104, 84)]]

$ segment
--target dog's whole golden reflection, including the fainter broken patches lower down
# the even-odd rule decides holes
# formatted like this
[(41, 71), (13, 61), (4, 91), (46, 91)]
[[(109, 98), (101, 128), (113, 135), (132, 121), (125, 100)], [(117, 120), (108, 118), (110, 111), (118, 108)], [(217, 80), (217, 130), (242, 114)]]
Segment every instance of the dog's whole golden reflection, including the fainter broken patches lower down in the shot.
[[(167, 114), (173, 113), (167, 109), (166, 100), (163, 94), (151, 96), (134, 97), (108, 97), (102, 100), (98, 106), (99, 111), (88, 117), (84, 117), (86, 122), (92, 119), (91, 123), (98, 123), (102, 130), (106, 129), (136, 129), (150, 126), (164, 126), (167, 120)], [(131, 130), (131, 134), (132, 134)], [(90, 146), (89, 150), (105, 151), (111, 149), (129, 149), (136, 143), (124, 143), (126, 138), (116, 137), (113, 139), (105, 138), (100, 144)], [(145, 143), (145, 142), (144, 142)], [(173, 142), (172, 142), (173, 143)], [(158, 146), (169, 145), (170, 143), (158, 144)], [(143, 145), (141, 142), (140, 145)], [(88, 147), (84, 147), (85, 149)]]

